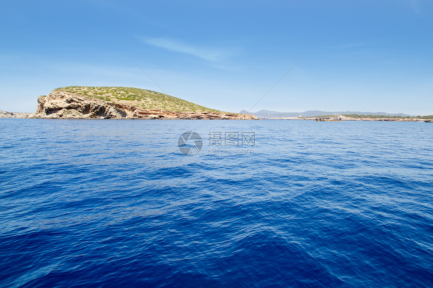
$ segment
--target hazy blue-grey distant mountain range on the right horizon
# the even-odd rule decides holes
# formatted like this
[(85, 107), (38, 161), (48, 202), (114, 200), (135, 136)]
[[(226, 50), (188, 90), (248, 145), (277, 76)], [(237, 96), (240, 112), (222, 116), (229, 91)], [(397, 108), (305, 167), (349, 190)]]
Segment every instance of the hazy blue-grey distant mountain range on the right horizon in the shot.
[(409, 117), (410, 115), (403, 113), (385, 113), (385, 112), (358, 112), (358, 111), (320, 111), (320, 110), (309, 110), (305, 112), (277, 112), (269, 110), (260, 110), (255, 113), (251, 113), (245, 110), (240, 112), (241, 114), (252, 114), (258, 118), (285, 118), (285, 117), (315, 117), (323, 115), (343, 115), (343, 114), (357, 114), (357, 115), (384, 115), (384, 116), (403, 116)]

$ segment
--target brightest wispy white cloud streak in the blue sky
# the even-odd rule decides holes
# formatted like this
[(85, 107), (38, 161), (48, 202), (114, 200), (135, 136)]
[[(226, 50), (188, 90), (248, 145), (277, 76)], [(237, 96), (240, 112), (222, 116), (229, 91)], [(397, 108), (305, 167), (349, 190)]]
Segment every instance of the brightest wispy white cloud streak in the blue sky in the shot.
[(236, 54), (236, 49), (230, 48), (210, 48), (187, 44), (178, 40), (169, 38), (139, 38), (146, 44), (164, 48), (174, 52), (186, 53), (195, 57), (201, 58), (208, 62), (219, 63), (227, 60), (229, 57)]

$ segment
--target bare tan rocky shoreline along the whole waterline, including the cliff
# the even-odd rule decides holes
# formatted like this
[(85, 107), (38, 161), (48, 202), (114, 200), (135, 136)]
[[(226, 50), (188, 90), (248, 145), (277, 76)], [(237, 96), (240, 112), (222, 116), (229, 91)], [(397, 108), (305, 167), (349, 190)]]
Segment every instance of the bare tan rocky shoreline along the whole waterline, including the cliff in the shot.
[[(0, 118), (37, 119), (225, 119), (256, 120), (250, 114), (215, 111), (168, 111), (144, 109), (124, 103), (110, 102), (98, 98), (83, 97), (78, 93), (53, 90), (47, 96), (38, 97), (35, 113), (10, 113), (0, 110)], [(314, 120), (314, 121), (388, 121), (388, 122), (433, 122), (423, 118), (353, 118), (344, 115), (326, 117), (284, 117), (261, 119)]]

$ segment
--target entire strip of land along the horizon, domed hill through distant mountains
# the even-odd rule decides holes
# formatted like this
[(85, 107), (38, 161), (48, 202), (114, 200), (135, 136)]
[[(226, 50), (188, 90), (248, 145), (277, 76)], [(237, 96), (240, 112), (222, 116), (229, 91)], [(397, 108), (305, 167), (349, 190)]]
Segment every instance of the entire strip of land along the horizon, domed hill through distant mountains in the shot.
[[(0, 110), (0, 118), (40, 119), (226, 119), (226, 120), (315, 120), (315, 121), (405, 121), (433, 123), (433, 115), (323, 115), (323, 111), (279, 113), (262, 110), (249, 113), (223, 112), (157, 91), (133, 87), (67, 86), (39, 96), (35, 113), (10, 113)], [(261, 113), (261, 114), (260, 114)], [(347, 112), (346, 112), (347, 113)], [(298, 117), (293, 114), (299, 115)], [(309, 115), (308, 115), (309, 114)], [(381, 113), (382, 114), (382, 113)], [(386, 113), (384, 113), (386, 114)], [(321, 116), (311, 116), (321, 115)]]

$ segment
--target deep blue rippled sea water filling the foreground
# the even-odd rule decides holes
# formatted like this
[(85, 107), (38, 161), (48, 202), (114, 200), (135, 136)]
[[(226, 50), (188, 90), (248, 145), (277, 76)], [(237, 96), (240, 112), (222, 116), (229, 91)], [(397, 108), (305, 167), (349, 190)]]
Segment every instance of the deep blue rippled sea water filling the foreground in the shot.
[[(185, 131), (200, 153), (180, 152)], [(209, 146), (219, 132), (255, 141)], [(0, 119), (0, 286), (432, 287), (432, 135), (411, 122)]]

